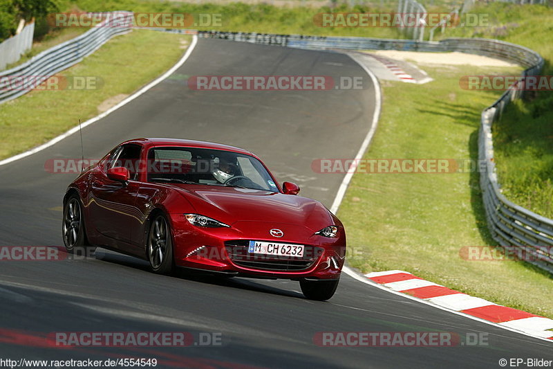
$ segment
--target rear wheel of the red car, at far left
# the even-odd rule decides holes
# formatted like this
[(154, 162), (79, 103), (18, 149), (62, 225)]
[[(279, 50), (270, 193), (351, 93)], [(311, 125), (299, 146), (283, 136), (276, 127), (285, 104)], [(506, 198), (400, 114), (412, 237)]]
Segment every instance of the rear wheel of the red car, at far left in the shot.
[(62, 219), (62, 237), (68, 253), (93, 252), (96, 248), (88, 243), (84, 226), (84, 212), (81, 200), (77, 195), (71, 195), (64, 203), (64, 217)]

